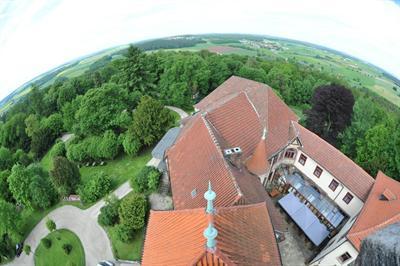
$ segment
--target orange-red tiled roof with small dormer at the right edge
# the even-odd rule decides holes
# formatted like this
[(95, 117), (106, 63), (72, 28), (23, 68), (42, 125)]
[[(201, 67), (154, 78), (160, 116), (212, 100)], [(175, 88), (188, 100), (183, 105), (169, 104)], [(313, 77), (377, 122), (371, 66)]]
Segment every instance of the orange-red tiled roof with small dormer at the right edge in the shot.
[[(387, 200), (382, 194), (390, 190), (395, 198)], [(360, 215), (347, 234), (351, 243), (360, 250), (361, 241), (387, 225), (400, 222), (400, 182), (379, 172), (375, 184)]]

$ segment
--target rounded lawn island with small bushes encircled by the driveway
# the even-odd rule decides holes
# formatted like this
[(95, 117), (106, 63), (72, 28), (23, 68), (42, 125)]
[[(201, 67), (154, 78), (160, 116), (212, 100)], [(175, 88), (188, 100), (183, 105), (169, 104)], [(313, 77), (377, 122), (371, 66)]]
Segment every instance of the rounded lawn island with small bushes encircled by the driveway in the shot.
[[(35, 250), (36, 266), (53, 266), (53, 265), (85, 265), (85, 252), (78, 236), (69, 230), (56, 230), (46, 236), (50, 239), (52, 245), (49, 249), (45, 248), (42, 243)], [(69, 255), (65, 254), (62, 245), (72, 245)]]

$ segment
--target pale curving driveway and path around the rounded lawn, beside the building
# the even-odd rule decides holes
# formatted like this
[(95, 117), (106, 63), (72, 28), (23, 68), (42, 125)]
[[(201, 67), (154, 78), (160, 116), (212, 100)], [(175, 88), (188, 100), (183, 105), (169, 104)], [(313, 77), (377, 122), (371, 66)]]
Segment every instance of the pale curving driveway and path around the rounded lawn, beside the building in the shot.
[[(188, 116), (188, 114), (182, 109), (172, 106), (167, 106), (167, 108), (177, 112), (181, 119)], [(131, 190), (132, 188), (129, 185), (129, 181), (127, 181), (117, 188), (114, 191), (114, 194), (117, 196), (117, 198), (121, 199)], [(97, 216), (99, 215), (100, 209), (104, 206), (104, 204), (104, 200), (100, 200), (86, 210), (66, 205), (50, 212), (47, 215), (47, 217), (54, 220), (57, 225), (57, 229), (69, 229), (79, 237), (85, 251), (86, 265), (96, 265), (101, 260), (115, 260), (107, 233), (97, 223)], [(46, 217), (42, 219), (25, 239), (24, 243), (26, 245), (30, 245), (33, 252), (39, 246), (40, 240), (49, 234), (49, 231), (46, 227), (46, 219)], [(15, 258), (8, 265), (33, 266), (34, 254), (31, 253), (28, 256), (23, 252), (19, 258)]]

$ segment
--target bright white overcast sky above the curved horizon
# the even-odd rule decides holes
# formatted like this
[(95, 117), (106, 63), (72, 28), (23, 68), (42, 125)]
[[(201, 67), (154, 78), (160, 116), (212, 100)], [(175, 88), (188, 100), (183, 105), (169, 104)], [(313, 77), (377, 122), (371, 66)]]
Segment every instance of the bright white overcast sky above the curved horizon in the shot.
[(197, 33), (307, 41), (359, 57), (400, 78), (399, 26), (399, 0), (0, 0), (0, 99), (82, 55)]

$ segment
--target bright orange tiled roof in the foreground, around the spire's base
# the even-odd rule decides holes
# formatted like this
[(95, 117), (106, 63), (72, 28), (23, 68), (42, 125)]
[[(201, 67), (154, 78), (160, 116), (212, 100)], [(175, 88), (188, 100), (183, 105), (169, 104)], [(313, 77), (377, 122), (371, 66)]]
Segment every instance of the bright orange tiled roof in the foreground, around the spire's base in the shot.
[(281, 265), (265, 203), (217, 208), (215, 253), (205, 246), (207, 225), (203, 208), (151, 211), (142, 265)]

